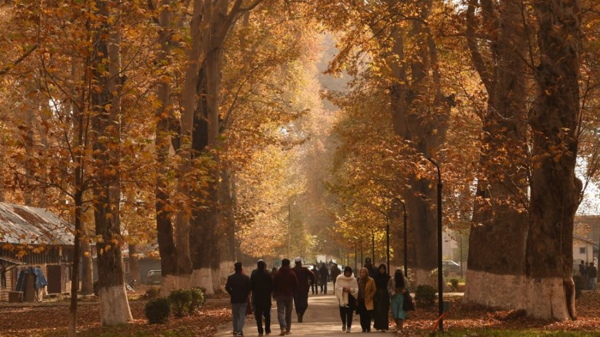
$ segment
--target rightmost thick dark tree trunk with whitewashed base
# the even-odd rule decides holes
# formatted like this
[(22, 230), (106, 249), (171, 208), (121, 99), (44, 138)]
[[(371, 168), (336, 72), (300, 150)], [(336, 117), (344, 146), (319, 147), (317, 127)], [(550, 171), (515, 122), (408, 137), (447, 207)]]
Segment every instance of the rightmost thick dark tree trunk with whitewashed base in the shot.
[(575, 176), (579, 121), (578, 0), (534, 3), (540, 52), (533, 134), (530, 229), (525, 300), (528, 314), (575, 317), (572, 271), (573, 219), (581, 181)]

